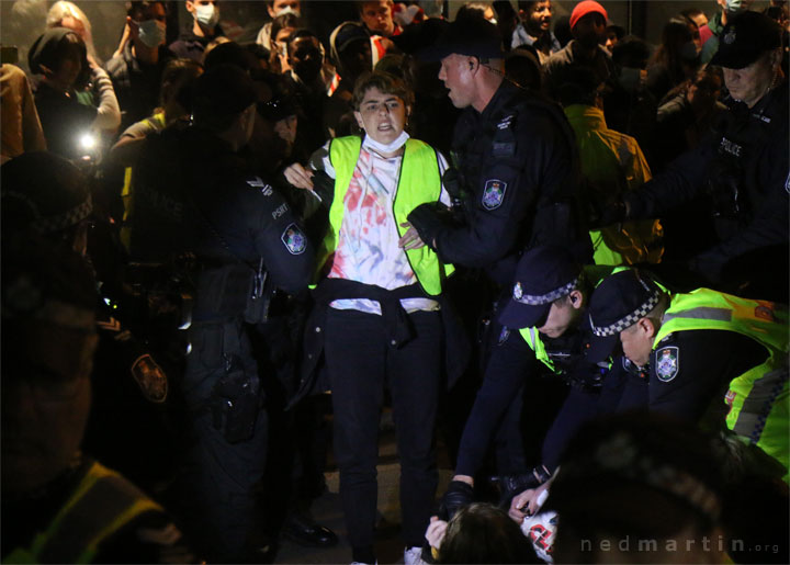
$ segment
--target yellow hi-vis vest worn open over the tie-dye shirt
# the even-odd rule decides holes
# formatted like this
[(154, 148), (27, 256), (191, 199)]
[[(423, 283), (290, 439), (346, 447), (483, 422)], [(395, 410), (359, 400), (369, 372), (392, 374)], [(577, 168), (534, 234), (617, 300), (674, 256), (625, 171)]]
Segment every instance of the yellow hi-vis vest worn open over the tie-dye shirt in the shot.
[[(335, 196), (329, 208), (329, 228), (318, 252), (318, 271), (335, 252), (340, 234), (340, 226), (346, 212), (346, 192), (359, 159), (362, 139), (357, 136), (338, 137), (329, 146), (329, 159), (335, 168)], [(406, 228), (400, 224), (407, 221), (408, 214), (426, 202), (439, 202), (441, 196), (441, 176), (439, 160), (433, 148), (417, 139), (408, 139), (400, 161), (400, 174), (393, 202), (393, 214), (398, 235), (403, 237)], [(429, 296), (441, 293), (442, 281), (454, 271), (451, 264), (439, 261), (436, 252), (424, 246), (406, 251), (409, 265), (417, 276), (422, 290)]]

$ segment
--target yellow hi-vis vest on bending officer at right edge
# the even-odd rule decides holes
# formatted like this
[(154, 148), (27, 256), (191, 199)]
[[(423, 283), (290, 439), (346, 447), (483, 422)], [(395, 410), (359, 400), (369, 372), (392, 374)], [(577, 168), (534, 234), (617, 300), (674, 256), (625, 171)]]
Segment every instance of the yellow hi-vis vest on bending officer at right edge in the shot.
[(655, 343), (675, 331), (719, 329), (749, 337), (766, 348), (768, 359), (730, 382), (726, 426), (790, 468), (790, 393), (788, 391), (788, 309), (698, 289), (673, 296)]

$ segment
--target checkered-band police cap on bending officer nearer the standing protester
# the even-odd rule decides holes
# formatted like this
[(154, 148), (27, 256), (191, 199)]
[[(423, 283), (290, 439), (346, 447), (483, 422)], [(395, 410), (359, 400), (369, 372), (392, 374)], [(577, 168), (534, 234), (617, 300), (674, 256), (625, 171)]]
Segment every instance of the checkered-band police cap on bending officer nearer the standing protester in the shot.
[(508, 328), (530, 328), (549, 315), (554, 301), (577, 287), (582, 265), (562, 247), (540, 246), (527, 251), (516, 268), (512, 295), (499, 315)]

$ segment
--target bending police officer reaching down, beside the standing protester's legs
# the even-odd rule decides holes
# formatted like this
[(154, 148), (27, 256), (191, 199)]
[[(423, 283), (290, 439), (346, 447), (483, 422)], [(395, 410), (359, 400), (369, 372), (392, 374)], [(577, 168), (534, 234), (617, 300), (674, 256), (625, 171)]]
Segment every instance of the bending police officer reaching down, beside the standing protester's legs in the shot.
[[(512, 294), (499, 316), (499, 343), (466, 421), (455, 476), (444, 495), (449, 513), (471, 501), (474, 475), (524, 385), (531, 392), (540, 391), (539, 378), (551, 375), (565, 381), (571, 392), (543, 441), (542, 464), (527, 470), (523, 461), (504, 462), (510, 465), (500, 470), (506, 475), (499, 477), (506, 496), (549, 479), (565, 442), (597, 414), (608, 365), (589, 363), (584, 355), (590, 276), (595, 274), (587, 270), (583, 273), (572, 253), (558, 247), (535, 247), (519, 261)], [(533, 394), (527, 402), (538, 405), (543, 400)]]

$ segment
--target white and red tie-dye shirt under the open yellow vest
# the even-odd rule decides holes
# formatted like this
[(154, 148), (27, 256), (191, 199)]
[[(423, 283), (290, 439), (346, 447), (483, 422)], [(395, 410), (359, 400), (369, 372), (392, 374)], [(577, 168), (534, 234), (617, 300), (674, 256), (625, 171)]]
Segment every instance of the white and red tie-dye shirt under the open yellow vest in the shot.
[[(348, 279), (387, 290), (417, 282), (406, 252), (398, 247), (400, 236), (393, 214), (402, 160), (403, 156), (381, 157), (363, 143), (343, 200), (346, 210), (328, 274), (330, 279)], [(323, 161), (324, 170), (335, 178), (328, 155)], [(440, 174), (445, 169), (447, 161), (439, 154)], [(440, 200), (450, 204), (443, 188)], [(404, 298), (400, 304), (406, 312), (439, 308), (438, 303), (429, 298)], [(381, 314), (376, 301), (340, 300), (332, 302), (331, 306)]]

